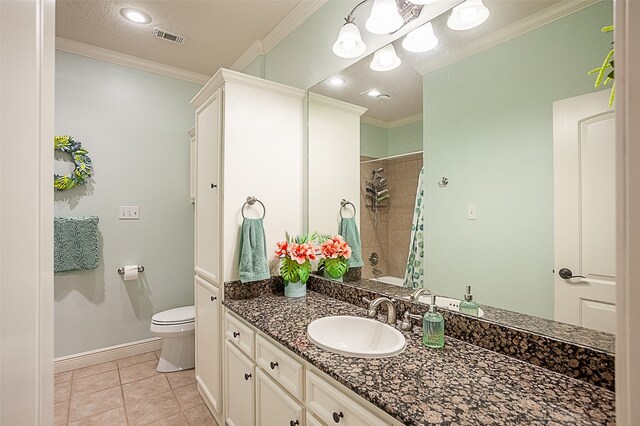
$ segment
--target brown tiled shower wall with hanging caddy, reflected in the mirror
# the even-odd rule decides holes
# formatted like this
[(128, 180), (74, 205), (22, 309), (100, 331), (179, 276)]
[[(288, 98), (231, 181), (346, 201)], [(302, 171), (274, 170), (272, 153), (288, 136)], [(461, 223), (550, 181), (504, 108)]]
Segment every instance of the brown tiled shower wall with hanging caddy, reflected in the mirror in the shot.
[(363, 278), (403, 284), (422, 162), (422, 152), (360, 157)]

